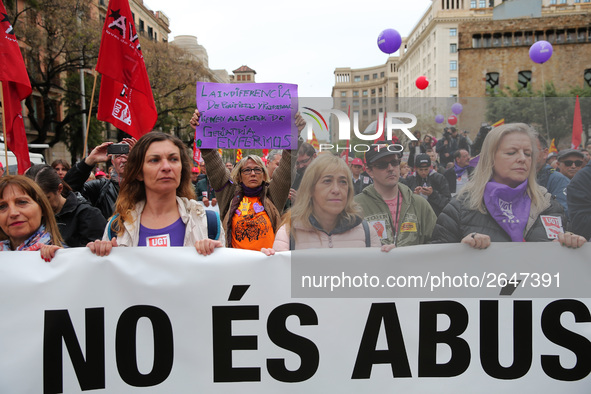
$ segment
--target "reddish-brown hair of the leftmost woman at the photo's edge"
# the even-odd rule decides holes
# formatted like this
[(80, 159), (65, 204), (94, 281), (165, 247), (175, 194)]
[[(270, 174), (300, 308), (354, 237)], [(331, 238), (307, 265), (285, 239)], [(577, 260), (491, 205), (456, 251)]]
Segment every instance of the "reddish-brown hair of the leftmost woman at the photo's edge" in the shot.
[[(51, 235), (51, 243), (53, 245), (62, 246), (64, 240), (60, 234), (60, 230), (57, 227), (55, 221), (55, 214), (49, 204), (49, 200), (45, 196), (45, 193), (41, 188), (33, 182), (33, 180), (23, 175), (7, 175), (0, 178), (0, 196), (4, 195), (4, 190), (7, 186), (14, 185), (25, 192), (29, 197), (33, 199), (41, 207), (41, 224), (45, 225), (45, 230)], [(10, 237), (0, 228), (0, 239), (6, 240)], [(15, 245), (18, 246), (18, 245)]]

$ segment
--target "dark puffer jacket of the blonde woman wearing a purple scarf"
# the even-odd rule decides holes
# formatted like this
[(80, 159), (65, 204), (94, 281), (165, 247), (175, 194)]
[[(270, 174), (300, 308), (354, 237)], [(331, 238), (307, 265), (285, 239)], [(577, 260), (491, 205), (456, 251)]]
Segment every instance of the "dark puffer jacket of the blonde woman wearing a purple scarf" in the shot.
[[(532, 206), (529, 212), (529, 219), (525, 226), (524, 238), (527, 242), (552, 241), (549, 238), (542, 216), (560, 218), (562, 228), (566, 225), (566, 216), (562, 205), (543, 187), (539, 186), (544, 193), (542, 206)], [(496, 220), (488, 213), (469, 209), (465, 196), (452, 198), (447, 204), (433, 230), (431, 243), (457, 243), (471, 233), (486, 234), (492, 242), (511, 242), (511, 237), (499, 226)]]

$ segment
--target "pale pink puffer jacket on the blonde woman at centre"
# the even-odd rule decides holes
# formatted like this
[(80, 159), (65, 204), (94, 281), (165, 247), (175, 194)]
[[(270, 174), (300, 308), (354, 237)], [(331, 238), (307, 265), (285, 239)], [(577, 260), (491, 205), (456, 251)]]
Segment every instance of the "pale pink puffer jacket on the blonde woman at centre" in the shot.
[[(311, 218), (313, 229), (304, 228), (301, 223), (295, 223), (292, 228), (283, 225), (275, 236), (273, 249), (277, 252), (290, 250), (290, 233), (293, 232), (295, 249), (317, 249), (317, 248), (364, 248), (365, 230), (361, 218), (351, 223), (339, 223), (330, 233), (324, 231), (318, 222)], [(372, 226), (368, 226), (370, 243), (372, 247), (381, 246), (378, 233)]]

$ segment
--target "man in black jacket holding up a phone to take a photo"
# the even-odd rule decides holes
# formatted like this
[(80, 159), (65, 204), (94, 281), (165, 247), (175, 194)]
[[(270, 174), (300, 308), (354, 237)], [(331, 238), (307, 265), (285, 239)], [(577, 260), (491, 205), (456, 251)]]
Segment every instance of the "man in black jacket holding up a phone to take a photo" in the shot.
[[(133, 147), (135, 138), (124, 138), (122, 143)], [(119, 196), (119, 183), (123, 179), (123, 171), (127, 163), (127, 154), (109, 155), (107, 147), (112, 142), (103, 142), (95, 147), (92, 152), (82, 161), (76, 163), (66, 176), (64, 181), (70, 185), (72, 190), (80, 192), (93, 207), (100, 209), (105, 219), (109, 219), (115, 210), (115, 202)], [(111, 178), (95, 179), (86, 182), (97, 163), (111, 160), (113, 173)]]

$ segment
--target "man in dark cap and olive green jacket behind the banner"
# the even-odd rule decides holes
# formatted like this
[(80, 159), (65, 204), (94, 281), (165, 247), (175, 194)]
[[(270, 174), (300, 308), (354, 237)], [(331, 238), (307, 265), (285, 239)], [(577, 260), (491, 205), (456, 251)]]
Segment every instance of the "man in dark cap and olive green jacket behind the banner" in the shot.
[(437, 216), (426, 199), (398, 182), (401, 155), (388, 148), (374, 145), (365, 153), (367, 173), (373, 184), (355, 196), (355, 201), (361, 206), (364, 219), (375, 228), (382, 245), (426, 244)]

